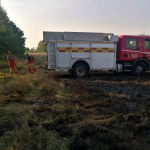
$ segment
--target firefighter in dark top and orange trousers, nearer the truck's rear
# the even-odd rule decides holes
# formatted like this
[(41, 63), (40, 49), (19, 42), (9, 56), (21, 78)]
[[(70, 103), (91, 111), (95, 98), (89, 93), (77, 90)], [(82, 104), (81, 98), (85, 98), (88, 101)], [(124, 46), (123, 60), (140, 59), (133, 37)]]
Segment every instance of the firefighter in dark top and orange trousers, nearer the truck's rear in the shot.
[(26, 54), (27, 57), (27, 66), (28, 66), (28, 73), (31, 73), (31, 70), (33, 70), (33, 72), (37, 72), (36, 70), (36, 66), (34, 63), (34, 57), (30, 56), (29, 54)]

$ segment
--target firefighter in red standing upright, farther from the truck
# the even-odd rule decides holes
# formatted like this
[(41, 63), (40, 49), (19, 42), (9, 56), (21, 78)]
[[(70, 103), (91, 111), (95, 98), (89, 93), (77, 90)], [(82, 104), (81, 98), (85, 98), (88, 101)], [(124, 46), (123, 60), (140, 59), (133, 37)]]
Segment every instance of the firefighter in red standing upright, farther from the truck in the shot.
[(15, 56), (12, 55), (10, 51), (8, 51), (7, 60), (9, 61), (10, 73), (12, 75), (14, 74), (14, 72), (15, 72), (15, 74), (17, 74), (17, 68), (16, 68), (16, 63), (15, 63)]

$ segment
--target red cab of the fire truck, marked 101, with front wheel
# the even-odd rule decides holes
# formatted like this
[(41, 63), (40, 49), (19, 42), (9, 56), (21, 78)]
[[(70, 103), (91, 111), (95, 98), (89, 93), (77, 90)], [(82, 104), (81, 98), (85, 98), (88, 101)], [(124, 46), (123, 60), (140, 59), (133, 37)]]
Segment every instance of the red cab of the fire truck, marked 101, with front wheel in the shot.
[(117, 63), (122, 65), (123, 72), (144, 74), (149, 71), (150, 36), (119, 36)]

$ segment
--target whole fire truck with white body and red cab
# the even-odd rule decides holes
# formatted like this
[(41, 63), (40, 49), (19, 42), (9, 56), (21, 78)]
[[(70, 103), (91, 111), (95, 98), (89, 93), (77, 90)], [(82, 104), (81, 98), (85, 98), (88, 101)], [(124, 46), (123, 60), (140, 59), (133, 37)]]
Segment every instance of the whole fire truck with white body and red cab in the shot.
[(85, 77), (92, 70), (130, 72), (150, 70), (150, 36), (91, 32), (43, 32), (48, 69)]

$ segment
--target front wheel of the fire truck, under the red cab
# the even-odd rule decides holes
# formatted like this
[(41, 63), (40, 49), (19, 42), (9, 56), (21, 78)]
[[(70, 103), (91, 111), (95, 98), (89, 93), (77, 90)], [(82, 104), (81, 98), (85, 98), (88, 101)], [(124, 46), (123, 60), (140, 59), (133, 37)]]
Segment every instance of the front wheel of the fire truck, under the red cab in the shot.
[(134, 67), (134, 73), (136, 75), (143, 75), (146, 73), (147, 67), (143, 62), (138, 62)]

